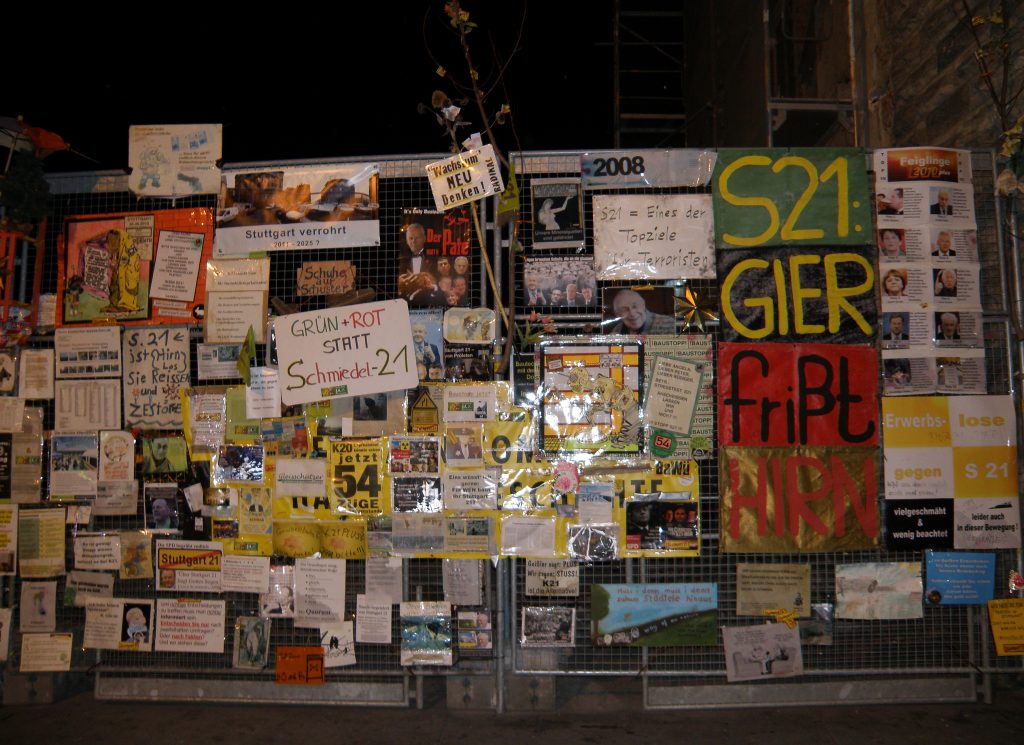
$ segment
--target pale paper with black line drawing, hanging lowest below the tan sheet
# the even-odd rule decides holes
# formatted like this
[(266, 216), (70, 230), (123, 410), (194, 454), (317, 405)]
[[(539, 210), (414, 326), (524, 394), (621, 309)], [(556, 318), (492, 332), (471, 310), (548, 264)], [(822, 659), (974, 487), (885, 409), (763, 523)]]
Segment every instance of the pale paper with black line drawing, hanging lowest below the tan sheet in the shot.
[(729, 683), (792, 677), (804, 671), (800, 629), (784, 623), (723, 626), (725, 676)]

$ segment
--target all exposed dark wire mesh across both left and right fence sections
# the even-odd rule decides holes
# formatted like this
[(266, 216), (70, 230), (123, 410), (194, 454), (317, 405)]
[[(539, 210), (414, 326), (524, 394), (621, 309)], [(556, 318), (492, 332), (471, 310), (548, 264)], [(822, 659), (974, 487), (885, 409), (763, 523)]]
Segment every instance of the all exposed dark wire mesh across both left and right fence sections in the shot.
[[(500, 277), (516, 282), (517, 314), (522, 319), (527, 313), (523, 293), (523, 257), (529, 256), (591, 256), (593, 247), (593, 200), (592, 192), (584, 192), (584, 225), (588, 249), (545, 250), (531, 249), (534, 212), (530, 186), (536, 178), (571, 178), (579, 175), (581, 154), (521, 154), (517, 161), (520, 174), (522, 206), (518, 242), (526, 250), (521, 256), (514, 256), (511, 263), (496, 267)], [(438, 157), (439, 158), (439, 157)], [(400, 215), (403, 208), (431, 209), (433, 202), (422, 166), (437, 160), (429, 157), (400, 161), (381, 161), (380, 219), (381, 246), (374, 249), (334, 249), (304, 252), (276, 252), (271, 254), (270, 297), (278, 297), (286, 303), (299, 304), (303, 310), (316, 307), (314, 303), (295, 295), (295, 275), (303, 261), (350, 259), (358, 267), (359, 276), (375, 289), (378, 297), (393, 297), (396, 289), (395, 266), (399, 250)], [(976, 210), (979, 232), (979, 247), (982, 259), (982, 297), (986, 312), (985, 348), (986, 380), (989, 393), (1014, 391), (1014, 358), (1011, 353), (1009, 326), (1006, 312), (1006, 282), (1002, 258), (998, 254), (997, 234), (999, 226), (991, 196), (993, 174), (990, 154), (975, 154), (974, 180)], [(52, 198), (53, 214), (49, 220), (46, 235), (46, 258), (43, 268), (43, 292), (54, 292), (56, 288), (56, 239), (65, 217), (71, 215), (100, 214), (122, 211), (142, 211), (164, 209), (171, 206), (167, 202), (136, 200), (124, 188), (124, 178), (118, 174), (99, 176), (68, 176), (57, 179), (58, 186)], [(696, 189), (652, 189), (647, 193), (691, 193)], [(605, 193), (623, 193), (607, 191)], [(635, 193), (631, 191), (630, 193)], [(210, 207), (212, 198), (179, 200), (174, 207)], [(476, 237), (473, 237), (474, 245)], [(498, 252), (498, 257), (510, 253)], [(502, 282), (504, 284), (504, 282)], [(599, 282), (598, 299), (601, 292), (614, 282)], [(672, 282), (680, 286), (682, 282)], [(698, 294), (711, 298), (717, 305), (717, 282), (699, 280), (690, 282)], [(471, 292), (474, 302), (489, 302), (482, 269), (474, 274)], [(587, 312), (544, 308), (555, 316), (560, 331), (565, 333), (588, 333), (599, 328), (600, 305)], [(717, 342), (717, 324), (711, 323), (709, 333)], [(200, 341), (199, 331), (193, 334), (193, 375), (196, 380), (198, 355), (195, 344)], [(49, 338), (37, 338), (31, 346), (46, 347), (52, 344)], [(717, 351), (717, 343), (716, 343)], [(258, 358), (263, 358), (263, 350)], [(237, 381), (210, 381), (208, 383), (237, 383)], [(716, 386), (717, 393), (717, 386)], [(45, 404), (45, 426), (53, 424), (51, 402), (30, 402), (32, 405)], [(717, 419), (715, 422), (717, 441)], [(712, 457), (699, 464), (701, 500), (701, 557), (698, 559), (648, 559), (625, 562), (597, 563), (581, 566), (580, 597), (573, 599), (577, 613), (575, 638), (571, 648), (551, 650), (524, 649), (517, 643), (519, 614), (523, 607), (537, 605), (564, 606), (567, 601), (559, 599), (551, 603), (549, 599), (530, 598), (524, 594), (524, 563), (510, 560), (510, 597), (495, 599), (488, 594), (486, 603), (496, 612), (508, 617), (513, 647), (513, 669), (517, 671), (552, 672), (558, 674), (622, 674), (649, 672), (658, 676), (658, 685), (679, 682), (690, 685), (699, 678), (700, 685), (720, 685), (724, 682), (724, 658), (720, 646), (692, 648), (637, 649), (628, 647), (597, 647), (591, 642), (591, 590), (594, 584), (623, 582), (715, 582), (718, 585), (719, 623), (739, 625), (760, 622), (760, 619), (738, 618), (735, 609), (735, 568), (742, 562), (787, 563), (800, 562), (811, 567), (811, 591), (814, 602), (830, 600), (835, 593), (835, 567), (840, 563), (866, 561), (912, 561), (921, 562), (922, 554), (906, 552), (857, 552), (852, 554), (815, 554), (800, 556), (779, 556), (771, 554), (724, 555), (719, 552), (719, 511), (718, 511), (718, 462)], [(84, 502), (83, 502), (84, 503)], [(50, 507), (42, 505), (40, 507)], [(23, 509), (36, 509), (23, 506)], [(141, 506), (134, 516), (123, 518), (94, 518), (90, 526), (96, 530), (135, 530), (142, 527)], [(73, 532), (68, 533), (68, 556), (73, 556)], [(441, 586), (441, 563), (438, 560), (414, 560), (406, 563), (406, 597), (424, 600), (438, 600), (443, 597)], [(1002, 581), (1011, 568), (1019, 568), (1018, 552), (997, 553), (997, 580)], [(493, 569), (488, 569), (488, 572)], [(493, 576), (493, 575), (490, 575)], [(7, 583), (7, 595), (3, 605), (16, 603), (19, 582)], [(62, 594), (65, 579), (57, 579), (58, 597)], [(489, 584), (489, 583), (488, 583)], [(365, 565), (350, 561), (346, 568), (346, 607), (354, 608), (355, 596), (365, 589)], [(118, 580), (115, 595), (122, 598), (171, 598), (173, 594), (157, 593), (153, 580)], [(213, 597), (213, 596), (211, 596)], [(227, 632), (224, 652), (218, 655), (194, 655), (178, 653), (154, 653), (139, 655), (126, 652), (102, 652), (82, 648), (84, 611), (68, 608), (58, 603), (58, 630), (73, 630), (75, 633), (76, 669), (89, 668), (98, 660), (100, 669), (112, 674), (129, 676), (175, 675), (189, 678), (262, 680), (272, 676), (271, 668), (253, 673), (232, 670), (230, 652), (232, 644), (232, 622), (240, 615), (258, 615), (255, 596), (224, 594), (215, 596), (226, 605)], [(507, 606), (507, 607), (506, 607)], [(400, 634), (397, 615), (392, 619), (391, 645), (357, 645), (354, 667), (332, 672), (333, 676), (364, 675), (371, 680), (374, 675), (400, 673), (398, 664), (398, 644)], [(271, 649), (279, 645), (306, 645), (317, 642), (317, 634), (309, 629), (297, 629), (290, 621), (274, 620), (271, 626)], [(996, 658), (987, 629), (984, 609), (980, 612), (965, 607), (943, 606), (926, 610), (925, 618), (914, 621), (837, 621), (833, 628), (833, 645), (804, 648), (805, 668), (816, 680), (841, 680), (850, 675), (901, 675), (936, 674), (939, 672), (971, 672), (981, 664), (982, 653), (989, 666), (999, 669), (1019, 668), (1020, 661), (1013, 658)], [(11, 658), (16, 665), (16, 654)], [(271, 663), (272, 666), (272, 663)], [(773, 682), (774, 685), (784, 685)]]

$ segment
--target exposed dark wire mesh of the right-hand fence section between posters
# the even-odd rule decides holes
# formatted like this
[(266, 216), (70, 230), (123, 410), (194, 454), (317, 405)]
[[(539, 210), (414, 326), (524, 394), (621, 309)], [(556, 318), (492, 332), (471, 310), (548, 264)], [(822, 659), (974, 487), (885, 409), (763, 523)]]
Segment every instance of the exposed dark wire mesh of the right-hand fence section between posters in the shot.
[[(523, 191), (528, 192), (530, 178), (548, 176), (544, 166), (556, 169), (554, 176), (579, 172), (575, 161), (566, 157), (529, 159), (534, 167), (523, 181)], [(999, 225), (992, 199), (991, 154), (976, 152), (973, 157), (974, 189), (978, 221), (978, 243), (981, 259), (982, 298), (985, 311), (986, 387), (989, 394), (1013, 392), (1013, 360), (1010, 336), (1006, 320), (1006, 290), (1004, 261), (999, 255)], [(679, 191), (693, 191), (680, 189)], [(649, 193), (657, 193), (651, 190)], [(602, 191), (602, 193), (609, 193)], [(611, 191), (610, 193), (615, 193)], [(635, 191), (633, 192), (635, 193)], [(587, 243), (593, 246), (593, 192), (585, 192), (587, 214)], [(529, 212), (524, 209), (521, 240), (528, 245), (530, 237)], [(547, 254), (548, 252), (545, 252)], [(567, 253), (567, 252), (566, 252)], [(528, 255), (528, 249), (527, 249)], [(521, 274), (517, 275), (521, 277)], [(599, 282), (603, 290), (608, 282)], [(705, 296), (718, 297), (714, 281), (692, 282), (693, 289)], [(520, 282), (520, 289), (523, 282)], [(520, 297), (522, 291), (520, 291)], [(716, 303), (717, 305), (717, 303)], [(557, 309), (553, 309), (556, 321)], [(582, 319), (573, 318), (575, 325), (597, 326), (599, 312)], [(561, 324), (559, 324), (561, 327)], [(718, 326), (711, 324), (714, 337), (716, 364)], [(717, 400), (718, 381), (714, 385)], [(715, 419), (715, 442), (718, 442), (718, 419)], [(921, 552), (894, 552), (880, 546), (878, 551), (852, 553), (823, 553), (802, 555), (778, 554), (723, 554), (719, 546), (719, 477), (718, 459), (699, 463), (701, 556), (699, 559), (640, 559), (617, 563), (584, 565), (581, 567), (580, 595), (574, 599), (531, 598), (525, 595), (525, 571), (521, 561), (512, 564), (513, 622), (520, 618), (523, 607), (555, 605), (572, 607), (577, 627), (572, 649), (550, 649), (540, 652), (517, 649), (515, 669), (529, 673), (556, 674), (622, 674), (646, 672), (657, 676), (658, 686), (672, 685), (724, 685), (725, 658), (720, 643), (710, 647), (659, 647), (646, 650), (630, 647), (598, 647), (593, 643), (591, 629), (591, 589), (594, 583), (624, 581), (673, 583), (713, 582), (718, 588), (718, 623), (723, 626), (762, 623), (763, 618), (739, 617), (736, 609), (736, 565), (740, 563), (785, 564), (800, 563), (811, 570), (811, 602), (835, 603), (835, 571), (839, 564), (864, 562), (912, 562), (923, 567)], [(879, 475), (879, 494), (884, 494), (882, 474)], [(884, 533), (884, 529), (883, 529)], [(997, 552), (997, 581), (1007, 576), (1011, 568), (1019, 567), (1020, 554), (1016, 551)], [(631, 564), (635, 570), (630, 571)], [(627, 580), (626, 577), (630, 579)], [(997, 590), (998, 591), (998, 590)], [(517, 630), (513, 638), (517, 638)], [(831, 628), (829, 646), (803, 645), (804, 669), (814, 680), (848, 680), (850, 675), (890, 676), (971, 674), (982, 665), (983, 651), (988, 651), (988, 665), (992, 660), (1004, 668), (1020, 667), (1012, 658), (995, 658), (991, 636), (985, 615), (968, 606), (930, 607), (921, 620), (860, 621), (836, 620)], [(779, 685), (799, 682), (778, 681)], [(772, 685), (766, 682), (765, 685)]]

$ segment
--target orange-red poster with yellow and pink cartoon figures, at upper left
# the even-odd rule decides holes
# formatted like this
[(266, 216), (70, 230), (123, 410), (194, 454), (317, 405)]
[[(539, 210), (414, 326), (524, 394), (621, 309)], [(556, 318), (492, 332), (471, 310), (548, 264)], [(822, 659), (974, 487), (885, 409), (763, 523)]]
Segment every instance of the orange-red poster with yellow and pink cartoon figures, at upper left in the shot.
[[(74, 216), (65, 220), (63, 238), (63, 261), (57, 265), (58, 326), (200, 320), (206, 277), (197, 268), (213, 250), (212, 210)], [(179, 244), (187, 247), (187, 256), (172, 261), (170, 253)], [(201, 247), (198, 255), (196, 246)], [(160, 268), (156, 277), (155, 260)], [(160, 280), (160, 297), (151, 292), (151, 277)]]

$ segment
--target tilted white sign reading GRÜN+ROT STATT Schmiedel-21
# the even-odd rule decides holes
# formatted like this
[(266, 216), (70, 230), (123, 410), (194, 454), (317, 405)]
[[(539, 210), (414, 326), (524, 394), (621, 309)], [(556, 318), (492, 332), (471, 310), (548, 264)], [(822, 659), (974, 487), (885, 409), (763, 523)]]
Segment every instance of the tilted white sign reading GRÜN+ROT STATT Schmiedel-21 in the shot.
[(286, 405), (418, 384), (403, 300), (286, 315), (278, 319), (276, 331)]

